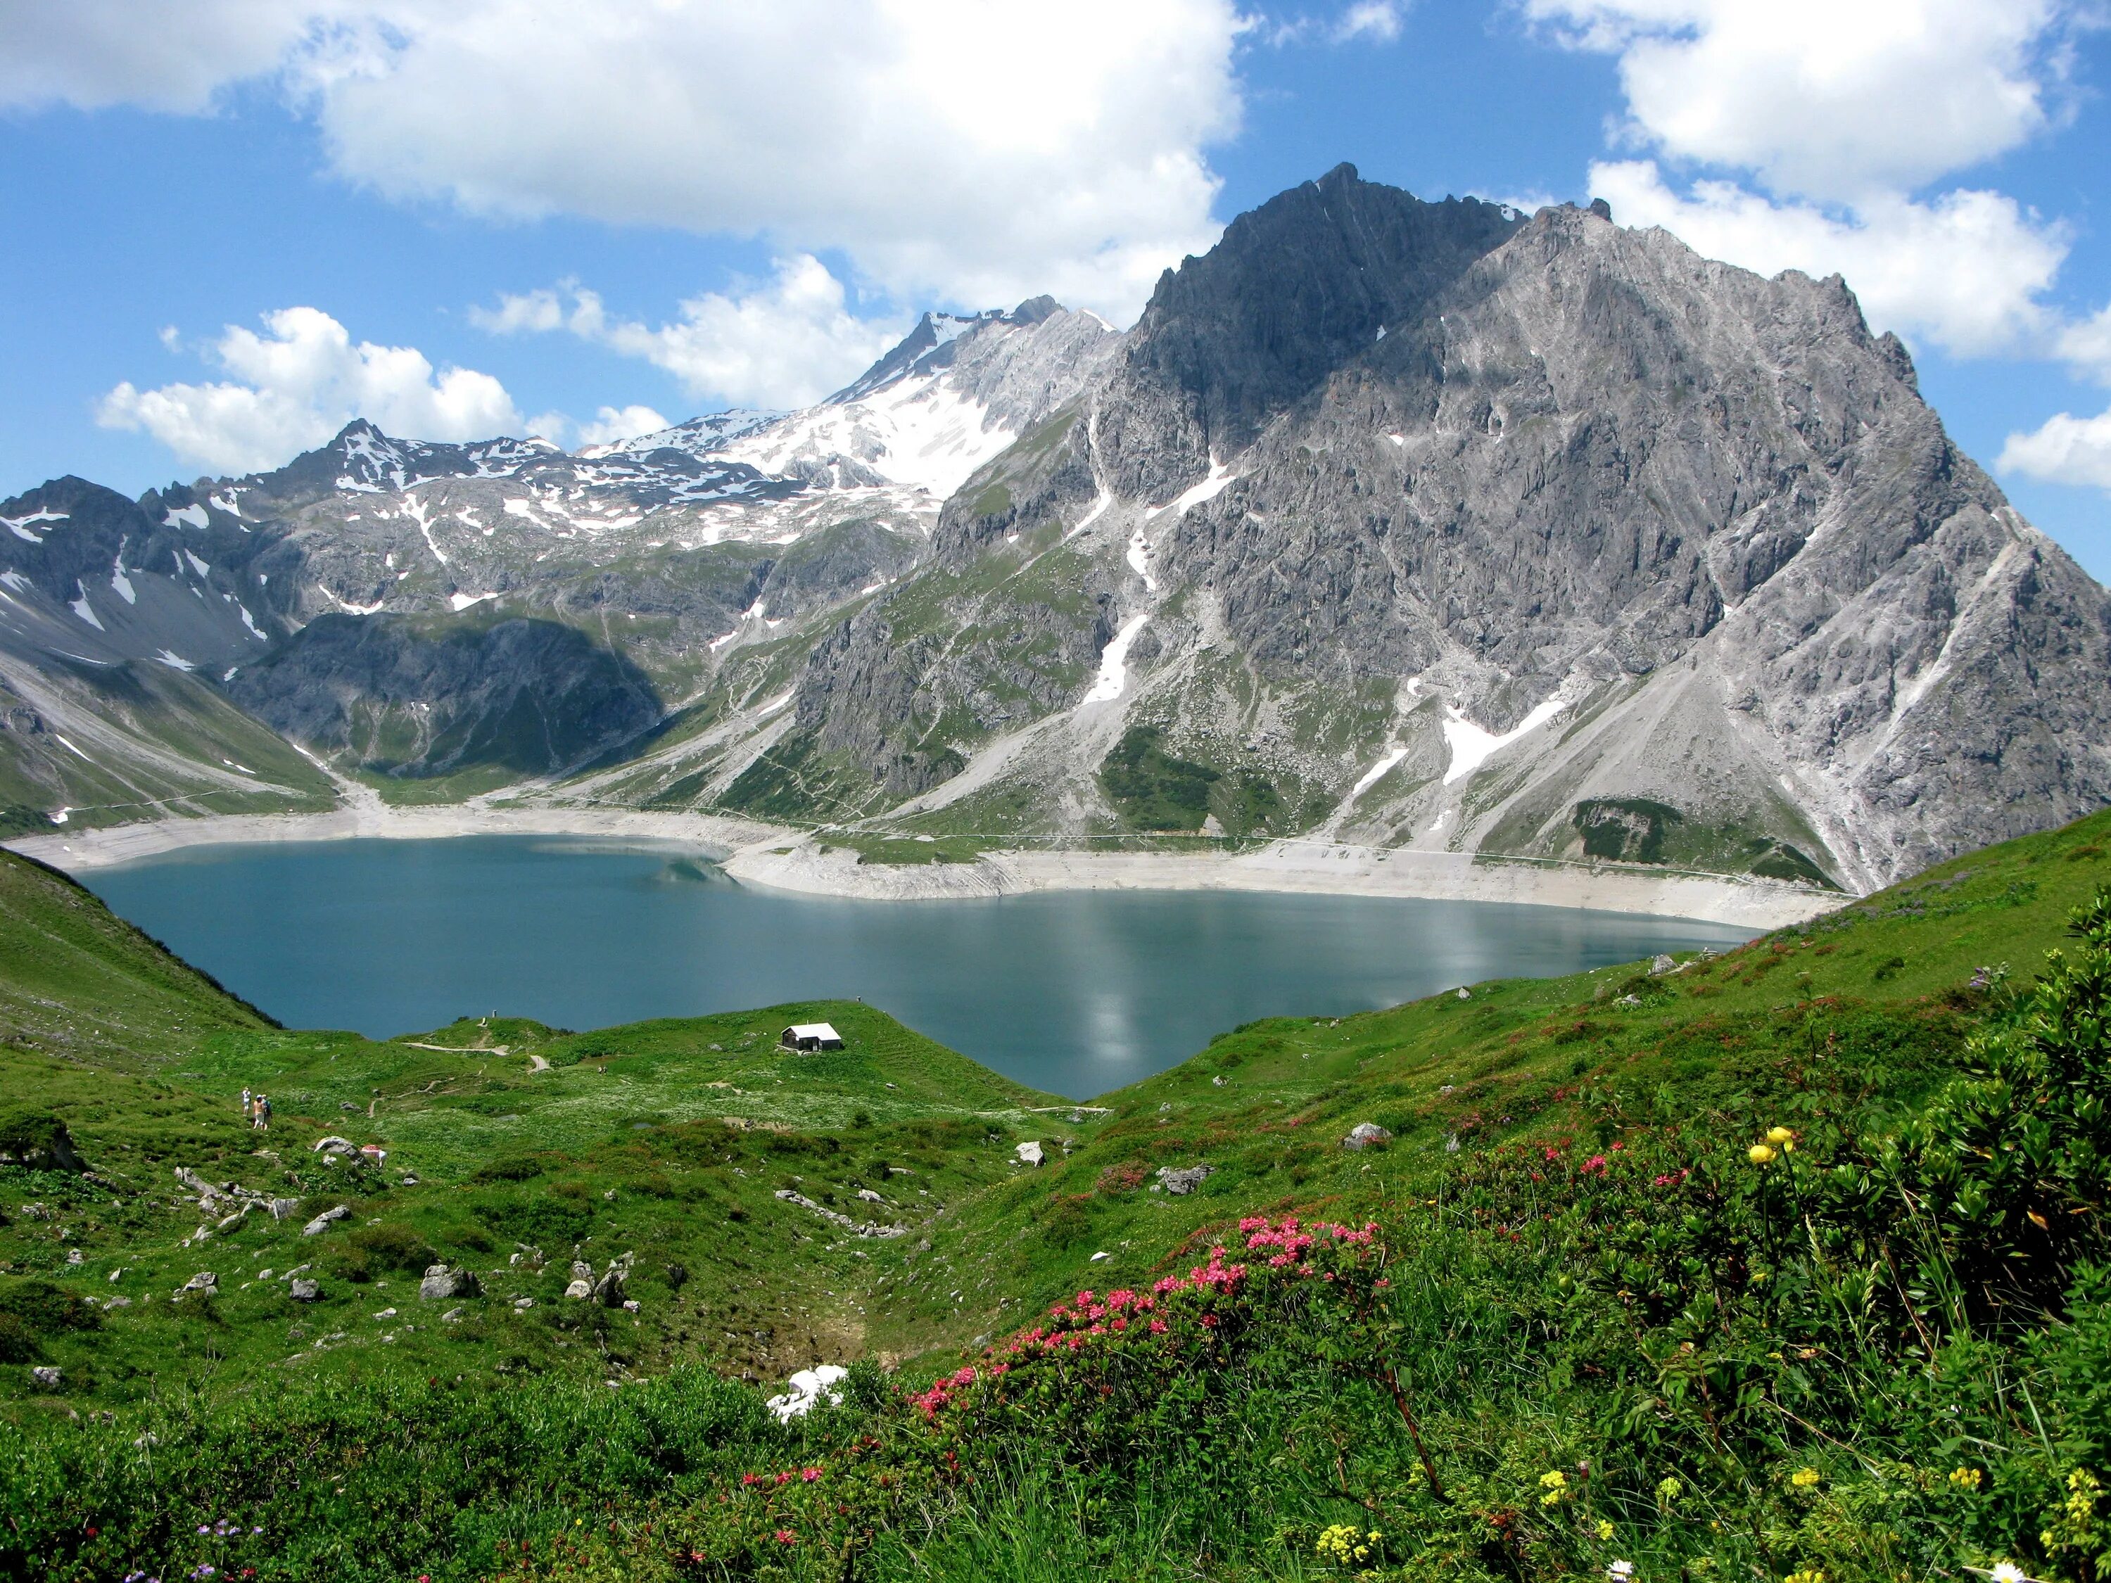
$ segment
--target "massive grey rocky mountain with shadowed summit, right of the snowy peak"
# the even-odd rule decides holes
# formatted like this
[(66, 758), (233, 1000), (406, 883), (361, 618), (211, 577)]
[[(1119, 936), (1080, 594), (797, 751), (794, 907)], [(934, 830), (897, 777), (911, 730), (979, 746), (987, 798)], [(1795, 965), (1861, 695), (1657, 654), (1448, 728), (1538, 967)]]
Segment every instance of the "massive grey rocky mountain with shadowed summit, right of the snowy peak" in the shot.
[(1119, 827), (1148, 726), (1197, 825), (1862, 889), (2111, 798), (2107, 678), (1841, 281), (1338, 169), (1159, 283), (796, 720), (925, 823)]

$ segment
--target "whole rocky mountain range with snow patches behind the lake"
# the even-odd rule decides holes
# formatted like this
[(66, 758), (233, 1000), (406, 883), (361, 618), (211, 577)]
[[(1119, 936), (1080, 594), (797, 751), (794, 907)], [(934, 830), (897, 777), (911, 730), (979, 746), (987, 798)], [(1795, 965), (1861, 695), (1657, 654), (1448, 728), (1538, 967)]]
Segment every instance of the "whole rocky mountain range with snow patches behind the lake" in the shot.
[(0, 504), (13, 829), (399, 798), (1866, 891), (2111, 800), (2111, 599), (1841, 279), (1338, 167), (1127, 331)]

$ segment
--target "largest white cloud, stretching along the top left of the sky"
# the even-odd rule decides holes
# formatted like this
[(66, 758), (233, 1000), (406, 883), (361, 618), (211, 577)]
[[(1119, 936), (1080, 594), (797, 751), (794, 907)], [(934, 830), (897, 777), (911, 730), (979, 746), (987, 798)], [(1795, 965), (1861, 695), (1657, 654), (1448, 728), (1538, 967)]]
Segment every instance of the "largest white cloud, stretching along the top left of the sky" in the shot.
[(1216, 236), (1205, 150), (1239, 122), (1245, 25), (1237, 0), (30, 0), (0, 106), (201, 110), (272, 76), (391, 196), (768, 236), (901, 300), (1125, 319)]

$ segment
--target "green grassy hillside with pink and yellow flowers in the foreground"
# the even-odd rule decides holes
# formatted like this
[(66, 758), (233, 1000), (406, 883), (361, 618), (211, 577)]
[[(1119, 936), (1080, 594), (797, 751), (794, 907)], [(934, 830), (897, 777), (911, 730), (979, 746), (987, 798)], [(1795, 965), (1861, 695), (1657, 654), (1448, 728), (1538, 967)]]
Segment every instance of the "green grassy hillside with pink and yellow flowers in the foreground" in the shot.
[[(1837, 1583), (2016, 1558), (2090, 1583), (2111, 920), (2020, 990), (2073, 950), (2107, 838), (2098, 815), (1676, 971), (1254, 1024), (1096, 1106), (842, 1003), (270, 1030), (8, 867), (6, 929), (72, 918), (137, 1009), (106, 1060), (6, 1053), (11, 1102), (93, 1176), (0, 1167), (0, 1570)], [(91, 1026), (89, 990), (19, 998), (42, 1038)], [(794, 1017), (851, 1049), (775, 1053)], [(279, 1100), (262, 1152), (243, 1083)], [(1366, 1121), (1389, 1138), (1345, 1150)], [(329, 1133), (386, 1161), (323, 1163)], [(220, 1224), (177, 1165), (300, 1207), (177, 1247)], [(1315, 1218), (1368, 1241), (1305, 1245)], [(562, 1296), (574, 1256), (623, 1254), (635, 1311)], [(437, 1260), (483, 1296), (420, 1300)], [(207, 1269), (217, 1296), (171, 1300)], [(783, 1427), (741, 1382), (853, 1357), (895, 1374)]]

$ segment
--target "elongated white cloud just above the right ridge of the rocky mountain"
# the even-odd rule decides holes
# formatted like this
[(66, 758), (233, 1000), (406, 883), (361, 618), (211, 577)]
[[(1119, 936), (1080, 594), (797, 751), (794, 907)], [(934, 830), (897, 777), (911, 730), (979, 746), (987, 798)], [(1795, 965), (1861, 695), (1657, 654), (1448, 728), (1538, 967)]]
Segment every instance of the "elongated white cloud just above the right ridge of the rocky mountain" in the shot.
[(1845, 274), (1877, 329), (1896, 329), (1963, 357), (2039, 346), (2039, 302), (2067, 232), (1999, 192), (1946, 192), (1932, 203), (1896, 194), (1841, 215), (1775, 203), (1733, 182), (1674, 192), (1653, 160), (1594, 165), (1590, 190), (1623, 226), (1663, 226), (1687, 245), (1761, 274)]

